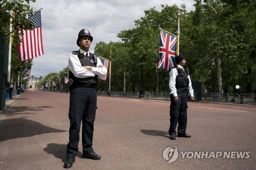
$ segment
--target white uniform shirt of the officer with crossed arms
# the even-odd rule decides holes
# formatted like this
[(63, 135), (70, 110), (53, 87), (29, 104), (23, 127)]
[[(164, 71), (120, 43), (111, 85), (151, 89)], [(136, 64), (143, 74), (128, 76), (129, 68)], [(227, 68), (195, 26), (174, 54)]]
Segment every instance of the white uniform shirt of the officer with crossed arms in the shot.
[[(85, 51), (81, 49), (80, 51), (83, 52), (84, 55), (86, 55)], [(89, 54), (90, 53), (88, 52), (88, 55)], [(101, 63), (99, 57), (97, 57), (96, 67), (92, 67), (92, 70), (88, 70), (82, 67), (77, 55), (74, 55), (73, 53), (71, 53), (69, 56), (68, 67), (73, 72), (74, 76), (77, 78), (94, 77), (96, 75), (98, 75), (100, 78), (105, 77), (107, 72), (106, 67), (98, 67), (99, 65), (103, 65), (103, 64)]]

